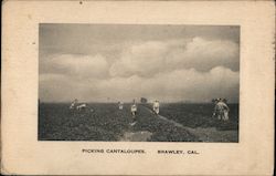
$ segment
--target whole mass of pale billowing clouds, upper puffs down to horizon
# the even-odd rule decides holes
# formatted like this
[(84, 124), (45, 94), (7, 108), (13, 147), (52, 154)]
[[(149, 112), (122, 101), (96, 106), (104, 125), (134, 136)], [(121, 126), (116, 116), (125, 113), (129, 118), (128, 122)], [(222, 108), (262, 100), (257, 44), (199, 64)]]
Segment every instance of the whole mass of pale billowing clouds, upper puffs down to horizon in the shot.
[(198, 37), (125, 43), (115, 60), (99, 53), (51, 54), (40, 58), (40, 99), (237, 102), (238, 58), (237, 43)]

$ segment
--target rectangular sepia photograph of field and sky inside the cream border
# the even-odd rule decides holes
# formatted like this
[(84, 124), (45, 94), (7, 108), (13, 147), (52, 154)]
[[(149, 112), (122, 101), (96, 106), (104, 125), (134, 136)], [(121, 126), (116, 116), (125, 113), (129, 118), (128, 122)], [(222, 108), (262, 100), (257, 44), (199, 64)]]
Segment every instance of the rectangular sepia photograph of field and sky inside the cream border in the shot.
[(240, 27), (39, 27), (39, 141), (238, 142)]

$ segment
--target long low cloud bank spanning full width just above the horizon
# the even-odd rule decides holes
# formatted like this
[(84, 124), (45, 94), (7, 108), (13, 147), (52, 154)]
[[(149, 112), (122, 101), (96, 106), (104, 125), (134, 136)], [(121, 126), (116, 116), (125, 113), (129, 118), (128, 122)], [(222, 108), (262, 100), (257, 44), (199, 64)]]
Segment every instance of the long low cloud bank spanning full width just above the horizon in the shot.
[(57, 102), (73, 99), (105, 102), (107, 97), (129, 102), (141, 96), (162, 102), (210, 102), (213, 97), (226, 97), (230, 102), (237, 102), (238, 74), (223, 66), (213, 68), (209, 72), (181, 69), (158, 73), (152, 77), (132, 75), (89, 81), (70, 80), (60, 74), (42, 74), (40, 97)]

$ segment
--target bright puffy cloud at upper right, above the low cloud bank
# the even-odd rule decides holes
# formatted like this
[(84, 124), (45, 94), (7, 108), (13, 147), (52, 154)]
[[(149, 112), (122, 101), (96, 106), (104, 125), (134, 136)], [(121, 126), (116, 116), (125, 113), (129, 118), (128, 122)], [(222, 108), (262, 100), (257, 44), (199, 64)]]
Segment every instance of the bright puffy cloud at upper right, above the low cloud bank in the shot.
[(209, 71), (221, 65), (237, 71), (238, 44), (227, 40), (193, 38), (184, 49), (172, 50), (166, 61), (172, 68)]

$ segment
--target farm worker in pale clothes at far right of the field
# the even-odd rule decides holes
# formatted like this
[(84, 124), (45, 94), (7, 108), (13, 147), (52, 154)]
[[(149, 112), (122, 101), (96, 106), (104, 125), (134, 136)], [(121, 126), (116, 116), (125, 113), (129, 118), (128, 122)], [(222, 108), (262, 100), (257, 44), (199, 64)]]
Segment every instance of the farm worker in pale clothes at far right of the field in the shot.
[(215, 100), (213, 116), (217, 116), (217, 120), (229, 121), (230, 108), (225, 102), (222, 99)]

